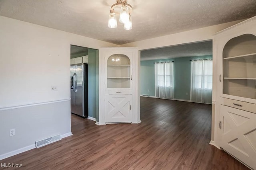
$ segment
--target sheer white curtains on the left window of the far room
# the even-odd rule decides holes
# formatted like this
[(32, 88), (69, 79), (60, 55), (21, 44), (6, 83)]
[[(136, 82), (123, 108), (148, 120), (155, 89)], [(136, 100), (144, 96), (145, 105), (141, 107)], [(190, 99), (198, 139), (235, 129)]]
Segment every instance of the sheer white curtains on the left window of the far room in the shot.
[(174, 63), (155, 63), (156, 97), (174, 98)]

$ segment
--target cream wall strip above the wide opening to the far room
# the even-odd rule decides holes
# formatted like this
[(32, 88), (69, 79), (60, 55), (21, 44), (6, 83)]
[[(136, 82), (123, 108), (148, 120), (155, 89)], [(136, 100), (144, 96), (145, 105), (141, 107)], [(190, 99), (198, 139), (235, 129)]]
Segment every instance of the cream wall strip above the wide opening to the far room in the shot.
[(228, 23), (222, 23), (219, 25), (212, 25), (209, 27), (193, 29), (190, 31), (184, 31), (180, 33), (165, 35), (162, 37), (156, 37), (151, 39), (145, 39), (142, 41), (136, 41), (121, 45), (122, 47), (138, 47), (139, 50), (154, 49), (159, 47), (166, 47), (178, 44), (192, 43), (198, 41), (206, 41), (213, 38), (214, 33), (221, 31), (227, 27), (235, 25), (243, 20), (232, 21)]

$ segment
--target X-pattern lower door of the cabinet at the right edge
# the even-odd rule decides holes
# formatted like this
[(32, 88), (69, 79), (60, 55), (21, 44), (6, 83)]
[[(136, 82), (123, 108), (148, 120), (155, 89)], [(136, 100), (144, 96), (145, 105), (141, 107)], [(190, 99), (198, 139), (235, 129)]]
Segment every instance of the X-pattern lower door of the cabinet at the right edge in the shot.
[(256, 169), (256, 114), (220, 105), (220, 147)]

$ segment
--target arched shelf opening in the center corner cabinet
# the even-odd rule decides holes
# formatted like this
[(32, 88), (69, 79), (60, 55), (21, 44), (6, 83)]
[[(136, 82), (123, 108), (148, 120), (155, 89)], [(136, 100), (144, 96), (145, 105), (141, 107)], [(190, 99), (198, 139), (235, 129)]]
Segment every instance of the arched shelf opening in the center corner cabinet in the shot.
[(107, 88), (131, 87), (131, 62), (128, 56), (114, 54), (107, 60)]

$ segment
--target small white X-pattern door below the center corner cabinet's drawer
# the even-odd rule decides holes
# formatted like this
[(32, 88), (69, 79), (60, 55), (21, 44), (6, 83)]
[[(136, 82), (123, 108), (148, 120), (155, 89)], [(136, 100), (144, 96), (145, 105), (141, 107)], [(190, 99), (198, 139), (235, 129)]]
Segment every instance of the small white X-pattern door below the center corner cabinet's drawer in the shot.
[(132, 95), (106, 95), (106, 123), (132, 122)]

